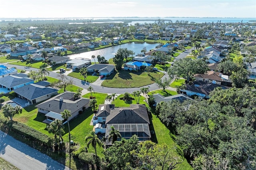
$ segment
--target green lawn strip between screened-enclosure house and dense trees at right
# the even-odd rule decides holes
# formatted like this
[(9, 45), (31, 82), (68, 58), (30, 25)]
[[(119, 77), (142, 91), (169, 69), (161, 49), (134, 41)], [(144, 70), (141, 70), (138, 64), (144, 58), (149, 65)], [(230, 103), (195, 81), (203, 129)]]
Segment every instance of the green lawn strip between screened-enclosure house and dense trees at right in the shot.
[(164, 124), (162, 124), (162, 122), (156, 115), (152, 114), (151, 121), (153, 124), (153, 126), (151, 125), (151, 127), (154, 129), (156, 135), (156, 139), (154, 142), (158, 144), (167, 144), (168, 146), (173, 148), (172, 150), (170, 150), (172, 155), (183, 159), (183, 162), (177, 165), (178, 170), (192, 170), (192, 167), (190, 166), (188, 161), (183, 157), (183, 152), (180, 146), (175, 143), (176, 136), (172, 132), (170, 132), (170, 130)]

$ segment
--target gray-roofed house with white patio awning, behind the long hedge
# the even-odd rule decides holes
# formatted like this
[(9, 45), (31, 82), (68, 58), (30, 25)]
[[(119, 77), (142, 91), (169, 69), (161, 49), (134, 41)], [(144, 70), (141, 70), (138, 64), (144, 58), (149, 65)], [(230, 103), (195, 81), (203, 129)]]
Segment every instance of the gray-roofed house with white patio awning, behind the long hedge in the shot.
[(76, 117), (80, 111), (84, 111), (89, 107), (90, 99), (83, 97), (75, 99), (74, 94), (76, 93), (64, 92), (36, 105), (38, 112), (46, 114), (46, 120), (43, 122), (50, 124), (55, 119), (58, 119), (66, 123), (66, 120), (64, 120), (60, 114), (65, 109), (68, 109), (71, 113), (71, 117), (68, 118), (68, 121), (70, 121)]

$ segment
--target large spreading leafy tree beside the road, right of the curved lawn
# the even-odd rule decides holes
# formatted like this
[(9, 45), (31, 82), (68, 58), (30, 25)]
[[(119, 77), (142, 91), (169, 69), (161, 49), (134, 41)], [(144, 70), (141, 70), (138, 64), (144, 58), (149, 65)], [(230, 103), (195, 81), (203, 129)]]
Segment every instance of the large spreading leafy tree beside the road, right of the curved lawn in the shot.
[(183, 58), (174, 62), (173, 66), (168, 69), (168, 74), (172, 78), (185, 76), (188, 83), (192, 75), (203, 74), (207, 69), (208, 66), (202, 59)]

